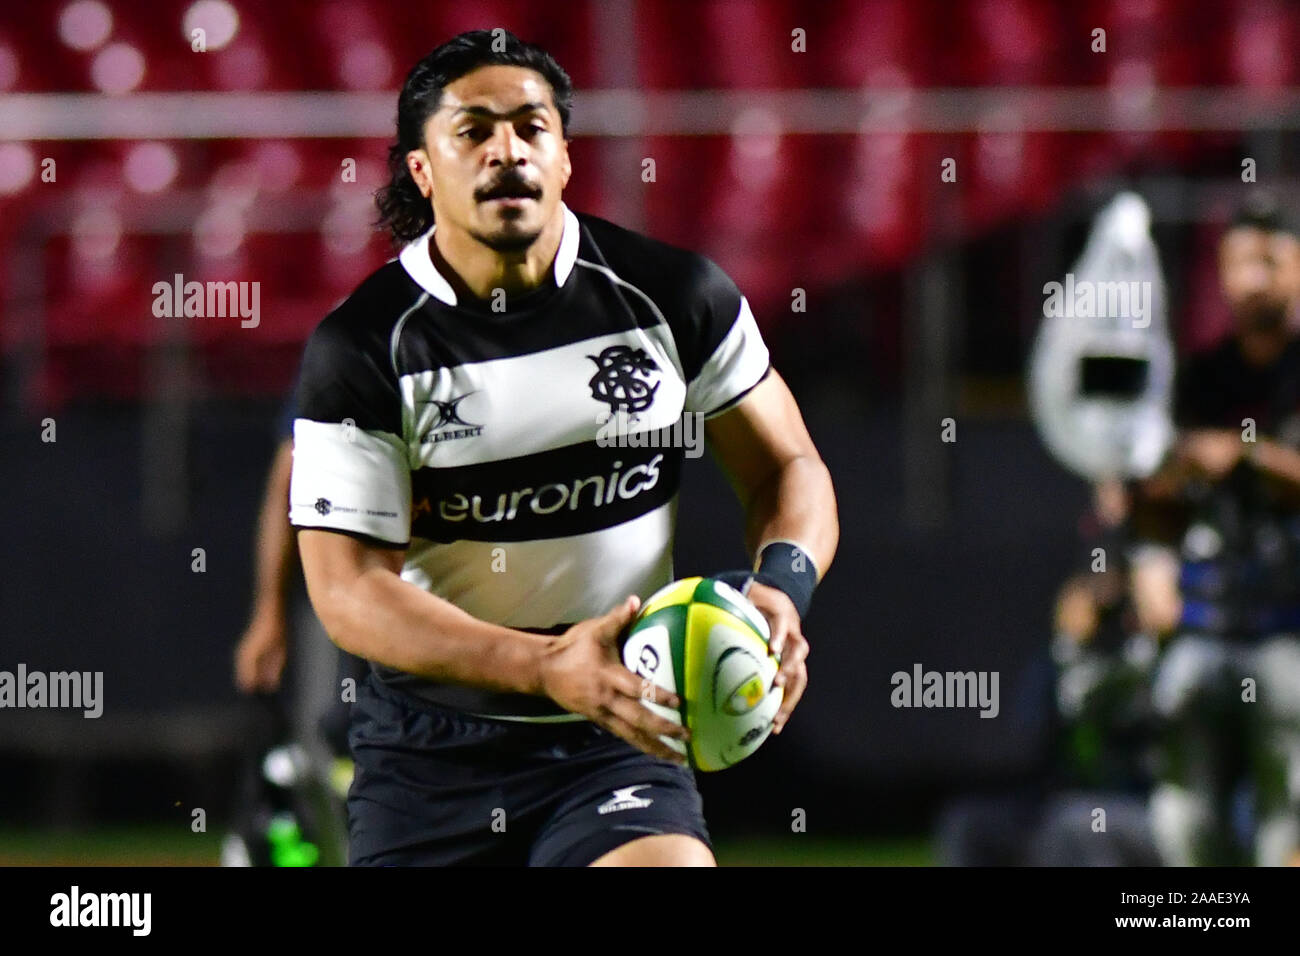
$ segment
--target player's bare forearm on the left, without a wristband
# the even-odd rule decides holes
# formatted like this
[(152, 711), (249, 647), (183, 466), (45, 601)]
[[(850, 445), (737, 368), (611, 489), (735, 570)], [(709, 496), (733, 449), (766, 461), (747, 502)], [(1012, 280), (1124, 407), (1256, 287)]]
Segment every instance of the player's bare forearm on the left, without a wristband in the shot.
[(308, 591), (330, 639), (351, 654), (429, 680), (542, 693), (551, 637), (480, 620), (387, 568), (368, 568), (324, 594), (308, 578)]

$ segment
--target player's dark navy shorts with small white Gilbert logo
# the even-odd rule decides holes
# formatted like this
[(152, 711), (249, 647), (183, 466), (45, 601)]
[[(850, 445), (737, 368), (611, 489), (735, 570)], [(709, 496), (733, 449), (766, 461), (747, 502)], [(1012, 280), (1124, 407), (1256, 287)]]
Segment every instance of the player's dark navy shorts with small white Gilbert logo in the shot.
[(589, 721), (474, 717), (372, 674), (348, 744), (352, 866), (585, 866), (653, 834), (712, 848), (693, 771)]

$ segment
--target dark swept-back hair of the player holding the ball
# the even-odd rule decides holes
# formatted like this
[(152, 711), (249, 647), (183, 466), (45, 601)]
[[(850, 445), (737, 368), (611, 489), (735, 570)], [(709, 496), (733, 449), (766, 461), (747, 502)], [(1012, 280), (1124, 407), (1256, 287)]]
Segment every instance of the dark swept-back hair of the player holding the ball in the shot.
[[(494, 49), (495, 43), (499, 49)], [(398, 96), (398, 142), (389, 147), (389, 185), (374, 195), (378, 225), (393, 234), (394, 245), (424, 235), (433, 225), (433, 207), (411, 178), (406, 155), (424, 146), (424, 125), (438, 109), (442, 90), (480, 66), (526, 66), (551, 86), (551, 99), (560, 114), (560, 133), (568, 129), (573, 109), (573, 82), (555, 59), (541, 47), (508, 30), (471, 30), (443, 43), (407, 74)]]

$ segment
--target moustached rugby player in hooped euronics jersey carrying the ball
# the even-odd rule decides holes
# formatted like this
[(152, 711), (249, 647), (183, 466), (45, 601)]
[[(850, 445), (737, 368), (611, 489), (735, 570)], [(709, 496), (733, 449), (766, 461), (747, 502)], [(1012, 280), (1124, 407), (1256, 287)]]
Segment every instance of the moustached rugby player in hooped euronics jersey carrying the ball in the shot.
[[(352, 708), (352, 865), (714, 865), (692, 771), (616, 641), (673, 580), (682, 414), (746, 514), (780, 734), (835, 493), (746, 299), (711, 260), (562, 200), (572, 86), (462, 34), (411, 70), (382, 221), (404, 242), (312, 334), (290, 519)], [(654, 688), (654, 700), (673, 698)]]

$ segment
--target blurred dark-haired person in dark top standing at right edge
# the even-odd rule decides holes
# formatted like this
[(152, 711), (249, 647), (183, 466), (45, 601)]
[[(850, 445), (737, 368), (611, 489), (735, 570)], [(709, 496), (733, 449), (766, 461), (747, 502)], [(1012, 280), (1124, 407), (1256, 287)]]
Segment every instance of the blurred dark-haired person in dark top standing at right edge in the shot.
[(1300, 243), (1256, 198), (1219, 245), (1234, 332), (1176, 378), (1178, 441), (1138, 485), (1132, 598), (1165, 637), (1150, 800), (1173, 865), (1300, 847)]

